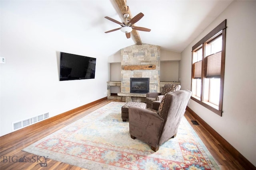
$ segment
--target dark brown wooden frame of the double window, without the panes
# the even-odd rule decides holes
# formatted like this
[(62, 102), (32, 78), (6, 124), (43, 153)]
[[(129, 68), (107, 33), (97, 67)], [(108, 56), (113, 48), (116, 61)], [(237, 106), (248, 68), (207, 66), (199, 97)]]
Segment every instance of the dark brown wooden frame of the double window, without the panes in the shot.
[[(220, 33), (221, 32), (221, 33)], [(220, 34), (218, 34), (220, 33)], [(204, 102), (204, 69), (205, 69), (205, 45), (211, 41), (214, 41), (216, 38), (222, 35), (222, 53), (221, 53), (221, 71), (220, 71), (220, 100), (219, 106), (214, 106), (209, 102)], [(191, 96), (191, 99), (195, 102), (199, 103), (200, 105), (210, 109), (214, 113), (222, 116), (222, 107), (223, 107), (223, 92), (224, 92), (224, 70), (225, 70), (225, 51), (226, 51), (226, 20), (222, 21), (217, 27), (215, 27), (210, 33), (208, 33), (205, 37), (203, 37), (198, 43), (196, 43), (192, 47), (192, 74), (191, 74), (191, 90), (192, 90), (192, 83), (193, 83), (193, 76), (194, 76), (194, 69), (193, 69), (193, 53), (198, 49), (202, 48), (202, 72), (201, 72), (201, 96), (200, 100), (197, 97)]]

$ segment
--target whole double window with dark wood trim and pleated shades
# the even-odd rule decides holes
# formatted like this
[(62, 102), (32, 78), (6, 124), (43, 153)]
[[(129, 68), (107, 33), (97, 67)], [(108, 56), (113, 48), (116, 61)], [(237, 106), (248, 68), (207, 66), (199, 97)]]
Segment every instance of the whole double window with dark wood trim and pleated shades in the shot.
[(192, 47), (191, 99), (222, 116), (226, 20)]

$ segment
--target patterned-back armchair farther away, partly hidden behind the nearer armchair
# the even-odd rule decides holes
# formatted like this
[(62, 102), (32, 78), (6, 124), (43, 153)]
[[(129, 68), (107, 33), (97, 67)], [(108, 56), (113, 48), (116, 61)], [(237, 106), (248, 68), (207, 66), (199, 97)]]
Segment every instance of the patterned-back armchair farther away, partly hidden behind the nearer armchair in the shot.
[(164, 84), (162, 92), (148, 92), (145, 100), (147, 108), (152, 108), (152, 102), (161, 101), (166, 93), (175, 92), (178, 90), (180, 90), (179, 84)]

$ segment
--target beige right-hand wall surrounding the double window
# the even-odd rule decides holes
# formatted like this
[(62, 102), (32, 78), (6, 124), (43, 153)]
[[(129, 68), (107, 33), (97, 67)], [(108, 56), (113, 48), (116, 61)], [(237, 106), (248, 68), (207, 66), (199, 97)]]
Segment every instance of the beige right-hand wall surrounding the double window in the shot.
[(192, 46), (227, 19), (223, 116), (188, 106), (256, 166), (256, 1), (234, 1), (181, 53), (182, 89), (191, 89)]

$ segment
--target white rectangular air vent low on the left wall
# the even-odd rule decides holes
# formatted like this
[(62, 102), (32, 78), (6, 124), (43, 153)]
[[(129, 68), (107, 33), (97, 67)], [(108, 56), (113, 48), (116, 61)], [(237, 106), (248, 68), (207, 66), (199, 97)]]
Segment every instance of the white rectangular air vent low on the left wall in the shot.
[(49, 113), (44, 113), (41, 115), (37, 115), (35, 117), (30, 117), (30, 118), (24, 119), (22, 121), (12, 122), (12, 131), (16, 131), (16, 130), (26, 127), (28, 125), (32, 125), (36, 122), (47, 119), (48, 117), (49, 117)]

